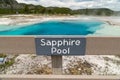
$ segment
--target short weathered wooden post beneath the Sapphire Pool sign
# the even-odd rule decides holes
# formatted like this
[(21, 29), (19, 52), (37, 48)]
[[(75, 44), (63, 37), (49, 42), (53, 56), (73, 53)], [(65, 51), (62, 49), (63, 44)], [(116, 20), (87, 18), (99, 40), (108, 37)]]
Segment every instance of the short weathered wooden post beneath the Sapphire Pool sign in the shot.
[(53, 55), (52, 59), (52, 72), (55, 75), (62, 74), (62, 56)]

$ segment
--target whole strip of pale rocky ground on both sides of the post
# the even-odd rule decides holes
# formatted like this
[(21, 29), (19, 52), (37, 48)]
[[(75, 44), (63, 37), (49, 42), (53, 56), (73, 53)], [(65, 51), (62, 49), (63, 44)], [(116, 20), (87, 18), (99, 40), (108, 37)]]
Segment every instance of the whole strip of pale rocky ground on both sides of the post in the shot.
[[(11, 58), (14, 58), (14, 63), (5, 67), (1, 74), (52, 74), (50, 56), (22, 54)], [(64, 56), (63, 73), (120, 75), (120, 56)]]

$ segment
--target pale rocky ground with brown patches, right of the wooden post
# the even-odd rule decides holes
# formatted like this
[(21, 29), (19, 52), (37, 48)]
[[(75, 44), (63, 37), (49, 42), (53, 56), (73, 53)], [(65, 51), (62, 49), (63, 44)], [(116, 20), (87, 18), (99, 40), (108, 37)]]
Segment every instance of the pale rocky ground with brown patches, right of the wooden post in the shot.
[(81, 75), (120, 75), (119, 56), (69, 56), (64, 57), (64, 72)]

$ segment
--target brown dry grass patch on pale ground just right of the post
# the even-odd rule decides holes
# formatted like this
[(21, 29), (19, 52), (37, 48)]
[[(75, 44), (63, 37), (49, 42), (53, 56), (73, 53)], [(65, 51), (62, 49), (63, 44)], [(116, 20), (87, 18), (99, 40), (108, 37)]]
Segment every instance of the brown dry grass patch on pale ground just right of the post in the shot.
[(87, 61), (77, 61), (76, 64), (73, 65), (69, 63), (68, 69), (65, 70), (65, 74), (72, 75), (91, 75), (93, 73), (92, 66)]

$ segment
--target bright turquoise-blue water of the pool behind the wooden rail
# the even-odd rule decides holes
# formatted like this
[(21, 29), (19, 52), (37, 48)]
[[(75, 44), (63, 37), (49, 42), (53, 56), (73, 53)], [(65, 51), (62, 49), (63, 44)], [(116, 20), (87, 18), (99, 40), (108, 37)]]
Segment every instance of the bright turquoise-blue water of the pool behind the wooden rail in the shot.
[(46, 21), (32, 25), (0, 26), (0, 35), (88, 35), (99, 30), (100, 21)]

